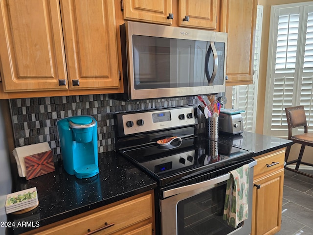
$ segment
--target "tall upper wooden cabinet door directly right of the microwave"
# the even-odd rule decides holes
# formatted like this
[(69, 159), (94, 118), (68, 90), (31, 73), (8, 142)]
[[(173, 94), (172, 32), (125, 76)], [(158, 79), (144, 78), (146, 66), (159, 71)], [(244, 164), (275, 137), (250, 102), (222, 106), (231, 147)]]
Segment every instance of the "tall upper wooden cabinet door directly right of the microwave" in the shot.
[(222, 31), (228, 33), (226, 85), (252, 83), (257, 0), (223, 0)]

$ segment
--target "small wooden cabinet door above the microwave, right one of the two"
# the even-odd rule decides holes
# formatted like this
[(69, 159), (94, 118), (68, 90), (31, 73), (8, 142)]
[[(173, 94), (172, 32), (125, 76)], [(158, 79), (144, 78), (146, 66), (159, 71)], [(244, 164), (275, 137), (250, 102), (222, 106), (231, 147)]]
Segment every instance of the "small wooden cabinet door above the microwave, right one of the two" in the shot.
[(179, 26), (216, 29), (217, 0), (179, 0)]

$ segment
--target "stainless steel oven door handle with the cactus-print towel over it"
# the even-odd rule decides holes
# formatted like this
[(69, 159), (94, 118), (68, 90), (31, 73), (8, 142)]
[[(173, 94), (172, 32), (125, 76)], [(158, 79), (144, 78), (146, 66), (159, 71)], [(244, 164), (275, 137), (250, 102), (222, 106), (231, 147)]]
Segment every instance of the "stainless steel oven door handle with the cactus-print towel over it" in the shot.
[[(253, 162), (249, 163), (248, 165), (249, 165), (249, 168), (252, 168), (256, 164), (257, 164), (257, 161), (253, 161)], [(213, 179), (210, 179), (207, 181), (196, 183), (193, 185), (182, 186), (179, 188), (172, 188), (172, 189), (169, 189), (169, 190), (166, 190), (163, 192), (163, 198), (167, 198), (167, 197), (174, 196), (174, 195), (177, 195), (180, 193), (193, 191), (193, 190), (197, 190), (197, 189), (201, 189), (201, 188), (208, 188), (208, 189), (214, 188), (217, 184), (220, 184), (224, 181), (227, 181), (228, 179), (230, 179), (230, 173), (218, 176), (216, 178), (213, 178)]]

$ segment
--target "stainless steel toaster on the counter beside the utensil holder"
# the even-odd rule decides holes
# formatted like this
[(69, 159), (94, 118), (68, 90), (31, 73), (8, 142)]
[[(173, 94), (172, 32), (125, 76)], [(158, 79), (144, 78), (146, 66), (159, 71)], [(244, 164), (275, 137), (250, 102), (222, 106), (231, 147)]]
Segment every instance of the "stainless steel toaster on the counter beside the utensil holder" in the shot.
[(219, 132), (229, 135), (236, 135), (243, 133), (244, 122), (242, 115), (239, 114), (224, 114), (219, 116)]

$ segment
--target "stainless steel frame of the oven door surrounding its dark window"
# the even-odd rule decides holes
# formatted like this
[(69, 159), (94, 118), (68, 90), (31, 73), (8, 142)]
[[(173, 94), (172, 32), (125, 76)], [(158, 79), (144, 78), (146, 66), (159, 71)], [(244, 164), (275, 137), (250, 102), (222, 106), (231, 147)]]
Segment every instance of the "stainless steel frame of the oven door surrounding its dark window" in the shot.
[[(249, 174), (249, 211), (248, 219), (244, 221), (244, 224), (239, 229), (231, 232), (231, 235), (243, 235), (251, 233), (251, 224), (252, 224), (252, 193), (253, 193), (253, 166), (256, 164), (256, 161), (253, 161), (249, 164), (250, 174)], [(206, 190), (218, 187), (226, 183), (229, 178), (229, 174), (219, 177), (219, 183), (217, 181), (209, 181), (205, 188), (189, 188), (190, 190), (185, 190), (179, 194), (174, 194), (174, 196), (168, 197), (164, 200), (160, 200), (161, 208), (161, 224), (162, 224), (162, 235), (178, 235), (177, 232), (177, 204), (179, 201), (195, 196)], [(224, 180), (224, 181), (223, 181)], [(199, 186), (199, 185), (198, 185)], [(202, 185), (203, 186), (203, 185)]]

